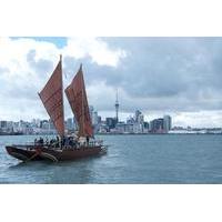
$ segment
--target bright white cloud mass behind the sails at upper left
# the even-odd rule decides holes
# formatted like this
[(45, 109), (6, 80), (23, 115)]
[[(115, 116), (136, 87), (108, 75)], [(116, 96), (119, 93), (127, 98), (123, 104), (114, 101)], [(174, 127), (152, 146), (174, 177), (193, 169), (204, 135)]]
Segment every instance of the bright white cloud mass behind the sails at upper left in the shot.
[[(89, 64), (115, 68), (124, 57), (122, 50), (110, 49), (99, 38), (68, 38), (63, 47), (31, 38), (0, 38), (1, 119), (47, 118), (38, 92), (51, 75), (59, 54), (63, 54), (64, 73), (69, 77), (64, 78), (65, 85), (70, 83), (81, 60), (85, 59)], [(70, 115), (67, 101), (65, 110)]]

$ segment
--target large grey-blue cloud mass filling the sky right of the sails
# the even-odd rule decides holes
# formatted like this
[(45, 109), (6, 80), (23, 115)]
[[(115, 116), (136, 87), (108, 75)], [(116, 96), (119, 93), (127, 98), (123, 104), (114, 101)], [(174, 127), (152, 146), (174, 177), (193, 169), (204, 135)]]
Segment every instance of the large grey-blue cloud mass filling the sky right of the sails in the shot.
[[(128, 52), (105, 82), (147, 109), (222, 108), (221, 38), (107, 38)], [(143, 104), (143, 103), (147, 104)], [(139, 103), (139, 102), (138, 102)]]

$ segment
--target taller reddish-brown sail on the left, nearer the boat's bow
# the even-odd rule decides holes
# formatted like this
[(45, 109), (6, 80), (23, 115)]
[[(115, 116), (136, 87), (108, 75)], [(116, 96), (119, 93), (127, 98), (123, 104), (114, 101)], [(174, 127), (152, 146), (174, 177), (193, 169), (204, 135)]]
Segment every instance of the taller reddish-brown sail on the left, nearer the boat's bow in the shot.
[(53, 122), (58, 133), (64, 135), (64, 113), (62, 97), (62, 63), (61, 59), (51, 78), (39, 93), (44, 108)]

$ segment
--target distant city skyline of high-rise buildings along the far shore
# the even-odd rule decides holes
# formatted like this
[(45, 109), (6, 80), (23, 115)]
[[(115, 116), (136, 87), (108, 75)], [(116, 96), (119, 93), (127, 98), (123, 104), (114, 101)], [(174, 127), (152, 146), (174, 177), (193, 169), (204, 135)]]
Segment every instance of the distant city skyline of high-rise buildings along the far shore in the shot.
[[(172, 117), (158, 117), (151, 121), (145, 121), (140, 110), (135, 110), (127, 121), (118, 121), (117, 117), (101, 119), (97, 110), (90, 105), (90, 117), (94, 134), (221, 134), (222, 128), (186, 128), (172, 124)], [(64, 131), (67, 134), (77, 133), (78, 123), (74, 117), (64, 121)], [(49, 135), (57, 134), (57, 130), (50, 119), (32, 119), (31, 121), (1, 121), (0, 135), (7, 134), (36, 134)]]

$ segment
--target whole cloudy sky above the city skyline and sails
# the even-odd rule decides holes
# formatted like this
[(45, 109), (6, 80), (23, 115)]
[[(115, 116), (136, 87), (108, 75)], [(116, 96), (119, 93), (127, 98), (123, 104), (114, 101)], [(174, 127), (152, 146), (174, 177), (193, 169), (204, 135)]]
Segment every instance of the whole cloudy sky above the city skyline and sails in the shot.
[(139, 109), (148, 121), (222, 127), (222, 38), (0, 38), (0, 120), (48, 118), (38, 92), (60, 53), (64, 87), (82, 62), (103, 118), (114, 115), (118, 89), (122, 120)]

